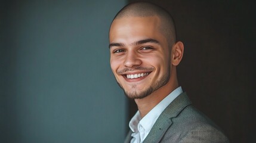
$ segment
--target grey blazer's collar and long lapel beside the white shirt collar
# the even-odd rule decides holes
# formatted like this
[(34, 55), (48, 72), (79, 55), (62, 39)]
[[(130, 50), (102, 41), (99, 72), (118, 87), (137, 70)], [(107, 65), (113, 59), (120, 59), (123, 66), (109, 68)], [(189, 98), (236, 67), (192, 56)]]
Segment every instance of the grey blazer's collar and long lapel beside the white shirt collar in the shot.
[[(186, 92), (183, 92), (175, 98), (158, 117), (158, 120), (156, 120), (149, 135), (147, 135), (143, 142), (160, 142), (166, 130), (172, 125), (171, 119), (176, 117), (189, 104), (191, 104), (191, 101), (187, 97)], [(131, 139), (129, 141), (131, 141)]]

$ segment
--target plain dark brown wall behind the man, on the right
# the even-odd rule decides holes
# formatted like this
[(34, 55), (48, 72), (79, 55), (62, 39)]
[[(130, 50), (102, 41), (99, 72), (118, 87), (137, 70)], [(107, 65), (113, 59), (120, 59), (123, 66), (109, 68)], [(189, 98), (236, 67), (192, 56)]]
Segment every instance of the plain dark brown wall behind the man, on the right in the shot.
[[(147, 1), (174, 17), (184, 42), (178, 80), (193, 105), (231, 142), (255, 142), (255, 1)], [(133, 116), (137, 107), (131, 102), (129, 108)]]

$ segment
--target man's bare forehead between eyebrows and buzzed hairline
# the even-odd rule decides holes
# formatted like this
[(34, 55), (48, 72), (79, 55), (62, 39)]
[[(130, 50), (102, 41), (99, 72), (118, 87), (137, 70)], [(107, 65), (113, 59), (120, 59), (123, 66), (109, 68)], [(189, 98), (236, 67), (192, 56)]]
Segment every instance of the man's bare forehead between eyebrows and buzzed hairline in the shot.
[(164, 38), (159, 32), (161, 20), (157, 16), (150, 17), (124, 17), (115, 19), (110, 27), (110, 42), (132, 42), (138, 39)]

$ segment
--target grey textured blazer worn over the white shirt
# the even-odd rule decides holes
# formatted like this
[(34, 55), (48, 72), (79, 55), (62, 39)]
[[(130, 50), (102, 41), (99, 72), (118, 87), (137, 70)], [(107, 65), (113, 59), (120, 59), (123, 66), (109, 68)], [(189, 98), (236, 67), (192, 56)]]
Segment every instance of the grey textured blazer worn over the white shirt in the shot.
[[(131, 141), (130, 130), (125, 143)], [(175, 98), (143, 142), (229, 142), (220, 128), (191, 105), (186, 93)]]

